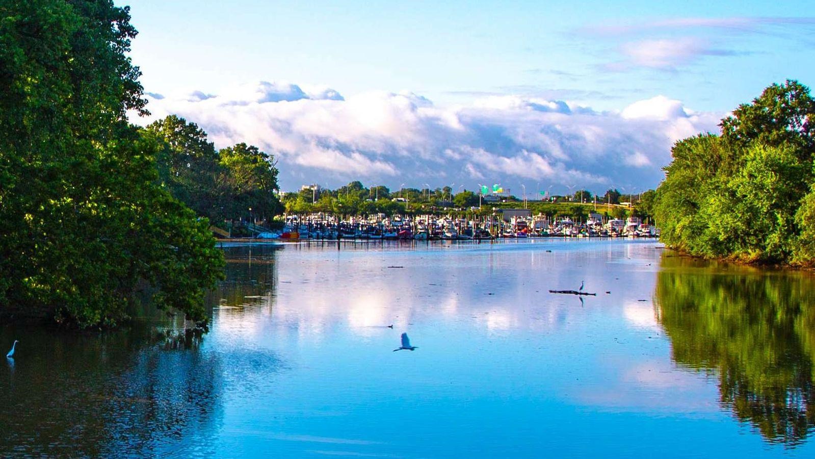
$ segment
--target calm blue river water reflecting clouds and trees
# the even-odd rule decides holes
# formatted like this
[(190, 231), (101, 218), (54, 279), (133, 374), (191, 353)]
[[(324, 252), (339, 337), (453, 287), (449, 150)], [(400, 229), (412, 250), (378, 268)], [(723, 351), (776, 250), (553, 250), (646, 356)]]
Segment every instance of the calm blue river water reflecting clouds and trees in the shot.
[(815, 457), (811, 275), (654, 241), (357, 247), (226, 247), (203, 337), (0, 328), (0, 456)]

